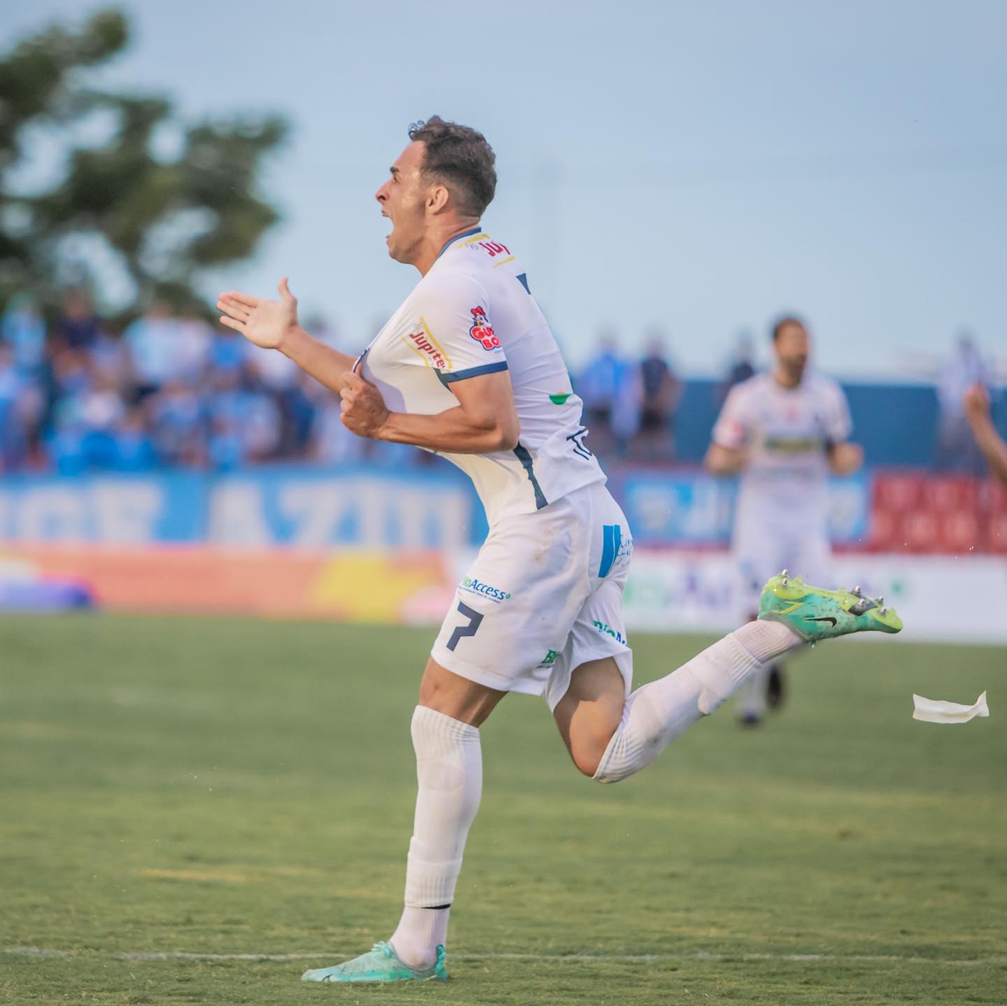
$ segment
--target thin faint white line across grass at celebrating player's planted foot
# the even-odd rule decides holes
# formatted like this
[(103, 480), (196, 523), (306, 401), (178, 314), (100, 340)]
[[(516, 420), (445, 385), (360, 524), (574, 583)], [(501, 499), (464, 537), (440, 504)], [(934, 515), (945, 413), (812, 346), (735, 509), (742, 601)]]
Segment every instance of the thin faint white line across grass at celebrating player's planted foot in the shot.
[[(348, 958), (351, 953), (317, 951), (311, 954), (188, 954), (183, 951), (148, 951), (136, 954), (104, 954), (49, 950), (41, 947), (0, 947), (0, 954), (13, 957), (66, 958), (105, 957), (117, 961), (322, 961)], [(566, 962), (591, 963), (615, 962), (619, 964), (655, 964), (683, 961), (787, 961), (798, 964), (817, 962), (833, 964), (939, 964), (943, 966), (975, 968), (1007, 965), (1007, 957), (957, 958), (913, 957), (901, 954), (452, 954), (455, 961), (540, 961), (563, 964)]]

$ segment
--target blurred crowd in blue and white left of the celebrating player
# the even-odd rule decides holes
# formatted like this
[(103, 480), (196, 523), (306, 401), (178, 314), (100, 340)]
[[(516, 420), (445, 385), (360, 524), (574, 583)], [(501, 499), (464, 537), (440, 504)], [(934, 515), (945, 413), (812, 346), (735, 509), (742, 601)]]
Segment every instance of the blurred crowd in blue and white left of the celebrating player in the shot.
[(154, 302), (121, 331), (79, 290), (0, 318), (0, 469), (227, 470), (352, 459), (338, 400), (277, 352)]

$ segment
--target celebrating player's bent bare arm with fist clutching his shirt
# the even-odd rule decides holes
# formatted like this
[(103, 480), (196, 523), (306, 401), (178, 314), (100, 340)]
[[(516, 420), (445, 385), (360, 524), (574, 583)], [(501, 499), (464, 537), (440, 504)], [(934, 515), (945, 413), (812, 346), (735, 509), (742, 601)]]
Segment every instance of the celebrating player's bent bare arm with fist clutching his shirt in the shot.
[(506, 371), (453, 382), (457, 408), (432, 416), (390, 412), (370, 382), (355, 374), (342, 380), (342, 424), (358, 436), (453, 454), (513, 450), (518, 444), (518, 413)]

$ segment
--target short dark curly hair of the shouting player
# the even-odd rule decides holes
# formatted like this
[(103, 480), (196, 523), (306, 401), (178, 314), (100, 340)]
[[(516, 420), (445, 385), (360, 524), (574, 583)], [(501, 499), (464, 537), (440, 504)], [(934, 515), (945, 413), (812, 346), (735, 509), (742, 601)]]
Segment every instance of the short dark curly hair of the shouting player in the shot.
[(451, 189), (463, 212), (481, 217), (496, 191), (496, 157), (486, 138), (468, 126), (445, 122), (439, 115), (414, 122), (409, 138), (426, 148), (424, 172)]

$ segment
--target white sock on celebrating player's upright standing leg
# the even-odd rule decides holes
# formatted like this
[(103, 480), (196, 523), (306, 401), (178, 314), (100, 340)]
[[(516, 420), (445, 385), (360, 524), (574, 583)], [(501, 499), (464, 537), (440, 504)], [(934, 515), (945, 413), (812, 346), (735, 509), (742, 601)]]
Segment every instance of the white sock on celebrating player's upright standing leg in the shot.
[(465, 839), (479, 809), (482, 751), (478, 729), (425, 706), (413, 713), (412, 734), (419, 792), (406, 907), (391, 944), (406, 964), (426, 968), (447, 938)]

